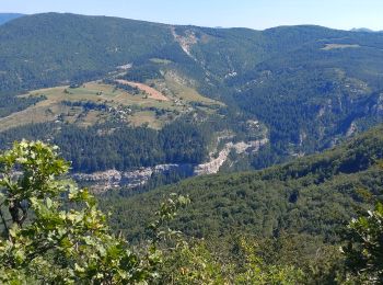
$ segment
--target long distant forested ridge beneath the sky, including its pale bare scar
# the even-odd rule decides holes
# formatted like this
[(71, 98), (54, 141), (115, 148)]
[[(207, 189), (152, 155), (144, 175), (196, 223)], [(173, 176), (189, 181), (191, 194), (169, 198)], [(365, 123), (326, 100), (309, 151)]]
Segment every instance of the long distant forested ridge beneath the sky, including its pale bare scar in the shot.
[[(153, 57), (173, 60), (189, 71), (199, 68), (207, 71), (202, 77), (222, 80), (230, 72), (252, 70), (256, 64), (306, 43), (348, 35), (357, 36), (318, 26), (259, 32), (171, 26), (106, 16), (35, 14), (0, 29), (2, 67), (7, 71), (2, 72), (1, 90), (47, 87), (106, 75), (117, 66), (142, 64)], [(19, 56), (12, 57), (13, 53)]]

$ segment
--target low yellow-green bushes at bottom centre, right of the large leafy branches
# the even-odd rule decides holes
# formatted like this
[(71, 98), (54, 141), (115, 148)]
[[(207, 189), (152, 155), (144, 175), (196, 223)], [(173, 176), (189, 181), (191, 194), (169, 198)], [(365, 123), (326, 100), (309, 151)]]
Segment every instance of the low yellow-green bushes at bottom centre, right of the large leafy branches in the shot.
[(254, 242), (239, 241), (241, 262), (220, 259), (204, 241), (181, 242), (164, 258), (160, 284), (297, 284), (304, 281), (301, 270), (267, 264)]

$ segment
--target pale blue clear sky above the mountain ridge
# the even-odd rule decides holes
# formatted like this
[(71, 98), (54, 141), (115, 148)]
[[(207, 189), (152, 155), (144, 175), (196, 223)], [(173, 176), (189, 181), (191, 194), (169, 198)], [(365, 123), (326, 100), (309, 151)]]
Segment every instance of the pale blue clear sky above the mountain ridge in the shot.
[(50, 11), (257, 30), (295, 24), (383, 30), (383, 0), (0, 0), (0, 12)]

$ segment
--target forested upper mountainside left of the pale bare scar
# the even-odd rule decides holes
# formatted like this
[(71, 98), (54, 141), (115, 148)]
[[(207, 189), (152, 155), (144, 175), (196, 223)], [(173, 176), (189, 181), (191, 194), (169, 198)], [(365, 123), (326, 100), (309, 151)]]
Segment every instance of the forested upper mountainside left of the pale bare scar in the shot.
[[(0, 29), (1, 90), (104, 76), (172, 42), (163, 25), (72, 14), (28, 15)], [(18, 54), (18, 56), (12, 56)]]

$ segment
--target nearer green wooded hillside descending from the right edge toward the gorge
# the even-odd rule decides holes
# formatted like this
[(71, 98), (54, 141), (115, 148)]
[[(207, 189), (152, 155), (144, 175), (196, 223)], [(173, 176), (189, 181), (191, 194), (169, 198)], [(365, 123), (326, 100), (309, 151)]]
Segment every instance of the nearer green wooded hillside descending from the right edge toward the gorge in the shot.
[(327, 241), (360, 207), (383, 195), (383, 126), (323, 155), (258, 172), (210, 175), (183, 181), (128, 198), (102, 197), (112, 220), (131, 240), (143, 237), (152, 209), (170, 193), (189, 195), (192, 205), (174, 227), (196, 237), (247, 232), (321, 236)]

